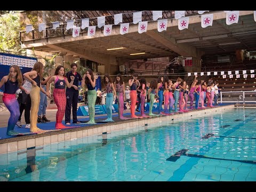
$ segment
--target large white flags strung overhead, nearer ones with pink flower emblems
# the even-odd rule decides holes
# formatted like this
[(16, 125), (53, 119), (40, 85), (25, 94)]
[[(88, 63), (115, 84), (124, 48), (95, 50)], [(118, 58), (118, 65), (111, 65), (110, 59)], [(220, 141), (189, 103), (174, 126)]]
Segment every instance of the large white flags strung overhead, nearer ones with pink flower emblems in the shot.
[[(198, 14), (201, 14), (201, 27), (206, 28), (212, 26), (213, 23), (213, 14), (203, 14), (209, 11), (198, 11)], [(226, 24), (231, 25), (233, 23), (238, 23), (239, 19), (239, 11), (224, 11), (226, 12)], [(163, 11), (153, 11), (153, 21), (156, 21), (159, 18), (163, 17)], [(256, 22), (256, 11), (254, 13), (254, 21)], [(202, 15), (203, 14), (203, 15)], [(195, 17), (195, 16), (191, 16)], [(185, 11), (174, 11), (174, 18), (178, 20), (178, 28), (179, 30), (188, 29), (189, 25), (189, 18), (185, 17)], [(113, 25), (105, 25), (105, 16), (97, 17), (98, 28), (104, 26), (103, 34), (105, 36), (111, 35), (112, 26)], [(89, 26), (90, 18), (81, 19), (81, 27), (74, 26), (75, 20), (67, 20), (66, 29), (73, 28), (73, 37), (78, 37), (80, 33), (80, 29), (88, 28), (87, 36), (94, 36), (96, 26)], [(157, 21), (157, 30), (158, 32), (162, 32), (167, 30), (167, 21), (168, 19), (161, 19)], [(115, 14), (114, 15), (114, 25), (119, 25), (120, 23), (120, 34), (124, 35), (129, 32), (129, 25), (130, 23), (122, 23), (123, 22), (123, 13)], [(138, 23), (138, 33), (144, 33), (147, 31), (148, 21), (142, 21), (142, 11), (140, 12), (133, 12), (133, 24)], [(60, 27), (60, 22), (55, 21), (52, 22), (52, 28), (57, 29)], [(42, 32), (46, 28), (46, 23), (39, 23), (38, 24), (38, 31)], [(33, 31), (32, 25), (26, 26), (26, 33)]]

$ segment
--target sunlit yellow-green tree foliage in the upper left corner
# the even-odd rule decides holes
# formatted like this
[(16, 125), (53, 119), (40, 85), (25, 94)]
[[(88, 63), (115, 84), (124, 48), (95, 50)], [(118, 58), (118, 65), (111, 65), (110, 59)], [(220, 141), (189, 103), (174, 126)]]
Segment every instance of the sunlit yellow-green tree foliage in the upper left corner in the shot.
[(21, 49), (19, 11), (7, 11), (0, 14), (0, 50), (15, 51)]

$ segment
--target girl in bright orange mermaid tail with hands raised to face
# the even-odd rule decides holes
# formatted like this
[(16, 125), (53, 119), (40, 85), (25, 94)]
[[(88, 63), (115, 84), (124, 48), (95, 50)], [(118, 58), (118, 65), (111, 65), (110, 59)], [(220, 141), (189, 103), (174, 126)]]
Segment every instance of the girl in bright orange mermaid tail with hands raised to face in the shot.
[(141, 118), (135, 115), (135, 105), (137, 99), (137, 86), (140, 86), (140, 82), (138, 80), (138, 74), (133, 74), (129, 79), (128, 84), (130, 86), (130, 99), (131, 99), (131, 118)]

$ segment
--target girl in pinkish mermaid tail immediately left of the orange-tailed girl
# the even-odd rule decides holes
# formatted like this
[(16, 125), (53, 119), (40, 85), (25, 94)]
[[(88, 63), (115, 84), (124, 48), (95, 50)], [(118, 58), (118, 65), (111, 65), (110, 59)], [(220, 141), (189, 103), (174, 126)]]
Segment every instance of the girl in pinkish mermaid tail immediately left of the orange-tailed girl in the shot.
[(128, 119), (124, 117), (124, 100), (125, 100), (125, 90), (124, 90), (124, 81), (121, 74), (116, 75), (116, 81), (114, 82), (114, 87), (116, 89), (116, 99), (118, 102), (118, 116), (119, 119)]

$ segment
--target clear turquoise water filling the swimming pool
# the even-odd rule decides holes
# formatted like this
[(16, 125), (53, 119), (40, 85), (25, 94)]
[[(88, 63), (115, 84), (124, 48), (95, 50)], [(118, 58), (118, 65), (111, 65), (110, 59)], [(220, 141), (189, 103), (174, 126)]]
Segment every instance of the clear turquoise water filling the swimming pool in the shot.
[(256, 181), (255, 123), (229, 109), (1, 154), (0, 180)]

